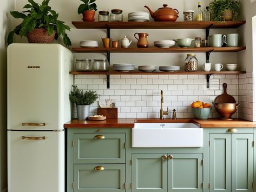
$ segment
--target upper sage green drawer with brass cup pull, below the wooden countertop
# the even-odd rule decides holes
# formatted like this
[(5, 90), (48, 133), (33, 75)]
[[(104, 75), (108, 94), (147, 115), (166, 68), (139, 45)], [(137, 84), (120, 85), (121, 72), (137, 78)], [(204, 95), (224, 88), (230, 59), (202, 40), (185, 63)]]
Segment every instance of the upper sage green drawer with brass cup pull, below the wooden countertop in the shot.
[(125, 163), (126, 134), (74, 134), (74, 163)]

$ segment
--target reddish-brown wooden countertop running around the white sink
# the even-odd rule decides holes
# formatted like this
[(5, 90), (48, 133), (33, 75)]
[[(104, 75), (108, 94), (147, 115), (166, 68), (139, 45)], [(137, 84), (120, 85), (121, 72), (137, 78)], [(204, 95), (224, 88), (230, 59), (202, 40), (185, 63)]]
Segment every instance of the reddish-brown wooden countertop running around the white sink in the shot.
[(134, 123), (195, 123), (201, 128), (256, 128), (256, 122), (234, 118), (233, 120), (197, 120), (193, 118), (177, 118), (177, 120), (159, 120), (158, 118), (116, 118), (103, 121), (71, 120), (64, 128), (133, 128)]

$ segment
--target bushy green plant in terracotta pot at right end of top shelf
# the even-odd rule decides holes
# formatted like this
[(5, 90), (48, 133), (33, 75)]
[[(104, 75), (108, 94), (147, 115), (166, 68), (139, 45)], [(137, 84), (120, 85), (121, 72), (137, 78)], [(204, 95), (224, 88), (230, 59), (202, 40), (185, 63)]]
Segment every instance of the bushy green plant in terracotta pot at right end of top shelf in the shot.
[(214, 0), (209, 4), (213, 21), (232, 21), (237, 19), (240, 0)]

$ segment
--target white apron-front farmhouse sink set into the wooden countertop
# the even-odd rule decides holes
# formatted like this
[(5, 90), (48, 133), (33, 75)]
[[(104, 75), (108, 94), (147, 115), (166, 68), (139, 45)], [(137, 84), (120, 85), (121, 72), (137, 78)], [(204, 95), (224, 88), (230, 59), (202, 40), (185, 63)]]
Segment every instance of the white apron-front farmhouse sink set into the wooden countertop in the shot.
[(202, 129), (194, 123), (134, 123), (132, 147), (202, 147)]

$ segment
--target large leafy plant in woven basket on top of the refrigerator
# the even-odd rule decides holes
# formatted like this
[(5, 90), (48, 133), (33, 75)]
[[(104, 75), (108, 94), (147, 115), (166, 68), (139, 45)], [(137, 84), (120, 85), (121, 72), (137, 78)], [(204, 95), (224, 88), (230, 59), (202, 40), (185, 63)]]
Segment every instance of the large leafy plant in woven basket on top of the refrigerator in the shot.
[(28, 0), (30, 4), (26, 4), (22, 12), (10, 11), (14, 18), (22, 18), (21, 24), (12, 30), (7, 38), (8, 44), (13, 43), (14, 34), (26, 36), (29, 43), (52, 43), (54, 39), (63, 37), (63, 43), (67, 46), (71, 45), (70, 39), (65, 30), (70, 30), (68, 25), (59, 21), (56, 11), (51, 10), (48, 5), (50, 0), (43, 0), (42, 4), (38, 4), (33, 0)]

